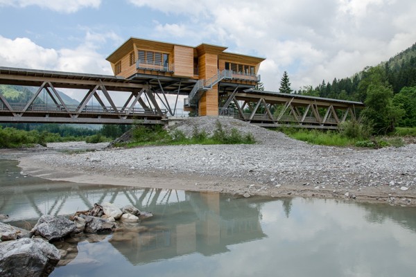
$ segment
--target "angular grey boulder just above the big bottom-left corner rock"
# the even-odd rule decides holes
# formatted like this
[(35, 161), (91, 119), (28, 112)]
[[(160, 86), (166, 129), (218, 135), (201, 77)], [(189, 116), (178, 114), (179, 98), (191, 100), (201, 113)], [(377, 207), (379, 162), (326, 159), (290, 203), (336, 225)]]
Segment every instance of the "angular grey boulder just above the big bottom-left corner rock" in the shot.
[(34, 235), (41, 235), (43, 238), (51, 241), (64, 238), (75, 230), (75, 223), (67, 218), (42, 215), (31, 232)]

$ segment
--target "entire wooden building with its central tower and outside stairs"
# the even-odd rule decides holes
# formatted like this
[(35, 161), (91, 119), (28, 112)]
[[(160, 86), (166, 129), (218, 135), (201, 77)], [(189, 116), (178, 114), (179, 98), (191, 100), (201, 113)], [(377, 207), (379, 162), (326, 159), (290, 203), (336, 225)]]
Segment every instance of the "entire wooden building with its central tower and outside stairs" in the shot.
[(184, 105), (199, 116), (218, 116), (221, 93), (253, 88), (261, 57), (229, 53), (227, 47), (196, 47), (130, 37), (107, 60), (114, 75), (155, 91), (187, 95)]

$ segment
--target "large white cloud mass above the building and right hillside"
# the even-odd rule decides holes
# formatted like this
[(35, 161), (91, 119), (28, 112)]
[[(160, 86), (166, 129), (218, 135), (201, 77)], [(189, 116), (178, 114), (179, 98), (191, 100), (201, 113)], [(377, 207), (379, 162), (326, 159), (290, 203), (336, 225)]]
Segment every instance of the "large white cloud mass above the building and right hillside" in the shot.
[(129, 1), (180, 15), (180, 23), (155, 24), (158, 39), (188, 38), (266, 57), (260, 73), (270, 90), (279, 87), (283, 71), (293, 89), (315, 86), (349, 77), (416, 42), (413, 0)]

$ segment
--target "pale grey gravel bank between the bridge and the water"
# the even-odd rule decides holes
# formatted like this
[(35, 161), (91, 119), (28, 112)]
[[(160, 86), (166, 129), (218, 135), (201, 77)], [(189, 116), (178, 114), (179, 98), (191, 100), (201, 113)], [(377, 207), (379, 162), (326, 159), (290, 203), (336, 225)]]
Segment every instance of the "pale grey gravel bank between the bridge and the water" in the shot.
[[(255, 145), (175, 145), (110, 149), (80, 154), (36, 154), (32, 163), (89, 175), (169, 176), (216, 180), (195, 190), (249, 195), (297, 195), (363, 199), (416, 205), (416, 145), (354, 150), (309, 145), (232, 118), (220, 118), (224, 129), (237, 127), (259, 141)], [(212, 132), (215, 118), (189, 118), (177, 125), (188, 136), (193, 126)], [(49, 145), (48, 145), (49, 146)], [(241, 185), (232, 185), (241, 184)]]

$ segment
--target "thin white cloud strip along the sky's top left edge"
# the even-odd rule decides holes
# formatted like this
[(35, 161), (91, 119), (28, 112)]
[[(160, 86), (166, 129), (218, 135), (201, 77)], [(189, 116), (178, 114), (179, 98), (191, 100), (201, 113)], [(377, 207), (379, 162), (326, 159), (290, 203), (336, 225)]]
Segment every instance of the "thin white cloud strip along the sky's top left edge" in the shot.
[(101, 0), (0, 0), (0, 6), (40, 6), (57, 12), (76, 12), (81, 8), (98, 8)]

